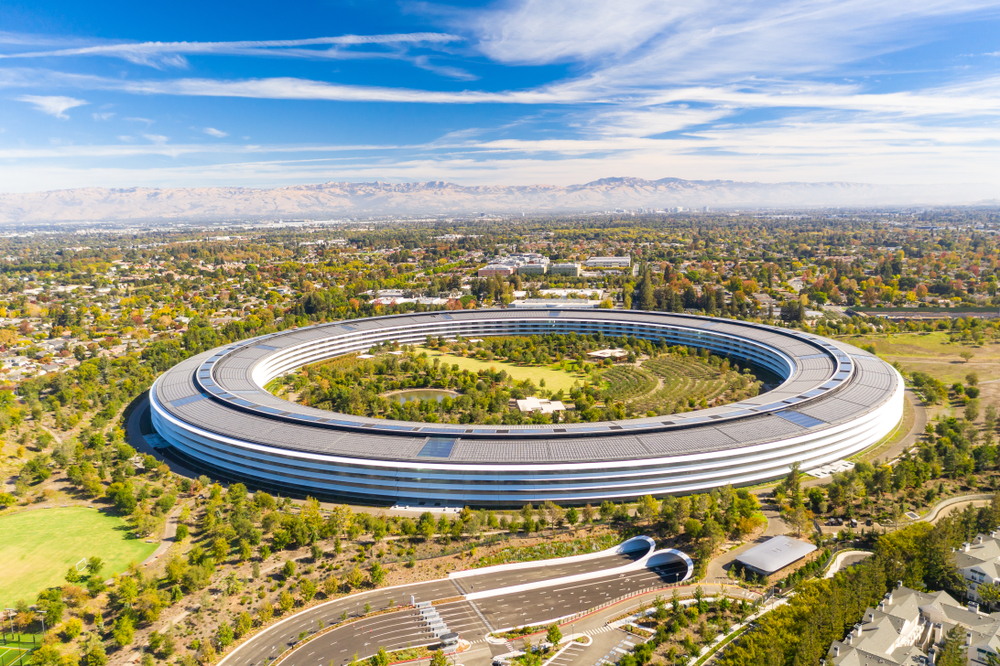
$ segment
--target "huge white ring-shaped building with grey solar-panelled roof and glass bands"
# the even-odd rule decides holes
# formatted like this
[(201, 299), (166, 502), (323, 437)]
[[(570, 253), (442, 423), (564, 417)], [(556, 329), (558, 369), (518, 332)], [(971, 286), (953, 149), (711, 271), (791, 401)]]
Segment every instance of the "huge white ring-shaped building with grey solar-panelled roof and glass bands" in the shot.
[[(545, 334), (630, 336), (705, 348), (780, 384), (720, 407), (623, 421), (484, 426), (349, 416), (263, 386), (385, 341)], [(899, 423), (903, 380), (860, 349), (728, 319), (622, 310), (467, 310), (347, 320), (220, 347), (150, 391), (167, 455), (283, 495), (373, 505), (509, 507), (631, 500), (749, 485), (871, 446)]]

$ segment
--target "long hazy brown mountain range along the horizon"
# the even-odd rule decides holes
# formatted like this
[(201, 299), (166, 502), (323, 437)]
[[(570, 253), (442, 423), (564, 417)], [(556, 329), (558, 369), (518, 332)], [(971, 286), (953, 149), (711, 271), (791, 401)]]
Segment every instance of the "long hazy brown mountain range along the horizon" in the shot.
[[(980, 192), (977, 196), (977, 192)], [(0, 194), (0, 224), (142, 220), (214, 221), (367, 215), (603, 212), (616, 208), (802, 208), (963, 204), (981, 187), (929, 188), (861, 183), (602, 178), (583, 185), (462, 186), (323, 183), (272, 189), (81, 188)], [(993, 193), (991, 193), (993, 194)]]

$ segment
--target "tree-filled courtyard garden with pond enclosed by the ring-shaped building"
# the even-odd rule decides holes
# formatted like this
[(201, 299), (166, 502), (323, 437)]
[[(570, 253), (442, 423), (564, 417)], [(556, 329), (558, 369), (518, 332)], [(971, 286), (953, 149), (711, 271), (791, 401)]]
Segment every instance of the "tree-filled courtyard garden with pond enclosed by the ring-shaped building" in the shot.
[[(613, 347), (619, 358), (592, 353)], [(276, 395), (346, 414), (431, 423), (575, 423), (704, 409), (757, 395), (749, 368), (706, 350), (550, 335), (379, 345), (271, 381)], [(420, 390), (421, 393), (412, 393)], [(435, 390), (436, 393), (428, 393)], [(412, 399), (414, 397), (422, 399)], [(563, 403), (521, 412), (516, 400)]]

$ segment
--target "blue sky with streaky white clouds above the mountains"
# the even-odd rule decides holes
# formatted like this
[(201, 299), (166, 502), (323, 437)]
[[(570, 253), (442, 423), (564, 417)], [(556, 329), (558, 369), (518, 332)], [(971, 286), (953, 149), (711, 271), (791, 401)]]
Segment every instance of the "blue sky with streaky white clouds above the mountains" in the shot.
[(0, 191), (1000, 190), (1000, 2), (0, 3)]

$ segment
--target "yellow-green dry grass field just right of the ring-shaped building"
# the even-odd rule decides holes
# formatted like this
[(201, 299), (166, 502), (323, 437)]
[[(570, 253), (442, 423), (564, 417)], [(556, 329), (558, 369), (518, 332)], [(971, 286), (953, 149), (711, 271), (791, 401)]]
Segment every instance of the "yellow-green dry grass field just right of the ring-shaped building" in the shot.
[[(897, 333), (885, 335), (851, 335), (840, 339), (858, 347), (874, 344), (879, 356), (896, 361), (909, 371), (926, 372), (946, 384), (964, 381), (970, 372), (979, 374), (980, 381), (1000, 379), (1000, 345), (949, 343), (948, 334)], [(960, 354), (971, 352), (966, 362)]]

